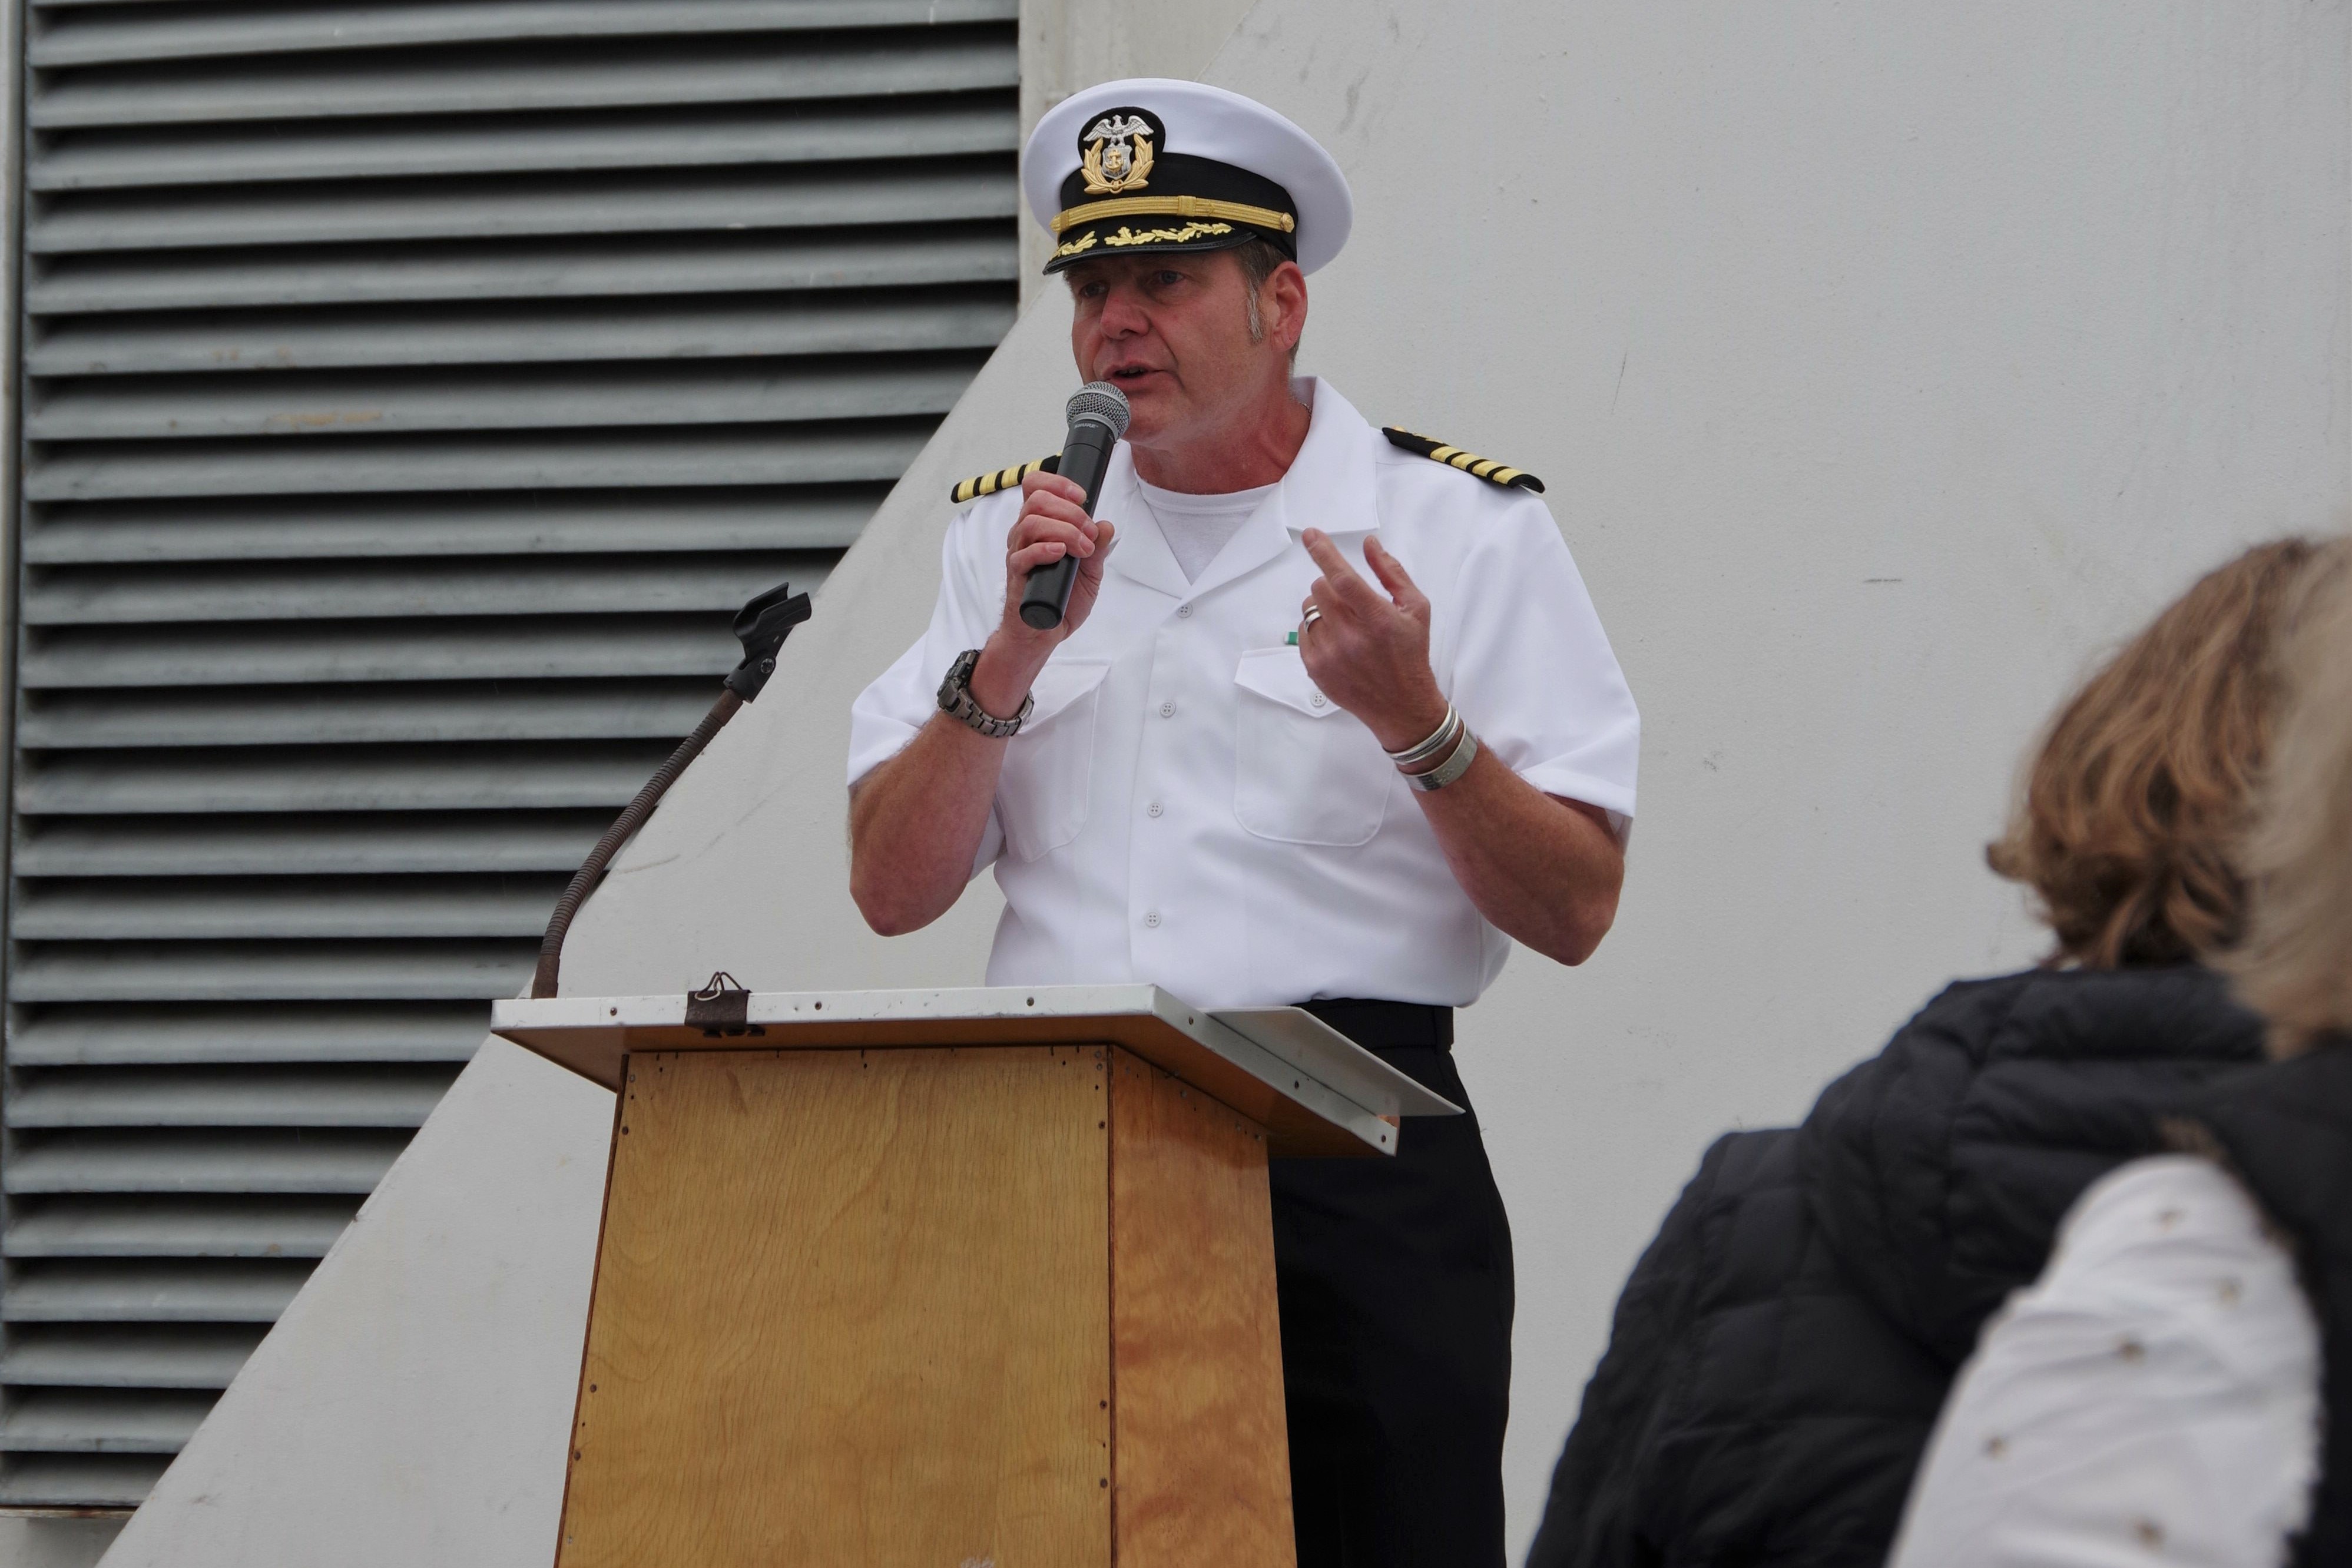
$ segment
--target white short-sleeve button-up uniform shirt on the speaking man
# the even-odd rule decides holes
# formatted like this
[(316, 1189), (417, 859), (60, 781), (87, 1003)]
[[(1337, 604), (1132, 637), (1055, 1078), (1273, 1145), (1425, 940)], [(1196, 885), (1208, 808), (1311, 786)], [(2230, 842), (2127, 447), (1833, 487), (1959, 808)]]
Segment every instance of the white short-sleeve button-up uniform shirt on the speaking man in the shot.
[[(1195, 581), (1115, 451), (1101, 599), (1037, 675), (974, 865), (1004, 889), (990, 985), (1461, 1006), (1503, 969), (1510, 940), (1454, 882), (1411, 788), (1284, 642), (1319, 576), (1310, 527), (1371, 583), (1378, 531), (1430, 597), (1430, 665), (1479, 745), (1548, 795), (1632, 818), (1639, 715), (1545, 505), (1399, 451), (1327, 383), (1298, 395), (1298, 458)], [(929, 630), (851, 710), (851, 785), (915, 738), (948, 665), (1002, 621), (1018, 515), (1021, 494), (1000, 491), (948, 527)]]

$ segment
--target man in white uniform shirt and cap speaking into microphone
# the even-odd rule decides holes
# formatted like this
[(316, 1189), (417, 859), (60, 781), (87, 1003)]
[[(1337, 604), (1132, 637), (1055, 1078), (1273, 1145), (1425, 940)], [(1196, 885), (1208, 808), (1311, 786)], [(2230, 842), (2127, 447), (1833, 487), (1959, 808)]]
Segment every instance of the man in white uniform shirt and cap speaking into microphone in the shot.
[[(1512, 938), (1592, 952), (1635, 809), (1639, 719), (1541, 484), (1291, 378), (1350, 205), (1289, 120), (1110, 82), (1040, 122), (1025, 186), (1080, 376), (1134, 418), (1101, 522), (1037, 465), (957, 487), (931, 625), (854, 710), (858, 907), (913, 931), (995, 867), (993, 985), (1305, 1004), (1468, 1105), (1451, 1009)], [(1063, 555), (1035, 630), (1023, 581)], [(1272, 1197), (1301, 1568), (1501, 1563), (1510, 1229), (1475, 1117), (1275, 1161)]]

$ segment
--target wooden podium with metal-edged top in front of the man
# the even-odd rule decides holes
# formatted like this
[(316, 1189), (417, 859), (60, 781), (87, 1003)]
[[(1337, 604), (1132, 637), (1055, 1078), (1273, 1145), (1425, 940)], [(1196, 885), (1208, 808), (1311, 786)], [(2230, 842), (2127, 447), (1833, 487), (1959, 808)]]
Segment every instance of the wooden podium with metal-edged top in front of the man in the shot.
[(1150, 985), (492, 1027), (619, 1091), (560, 1568), (1289, 1568), (1265, 1159), (1458, 1114)]

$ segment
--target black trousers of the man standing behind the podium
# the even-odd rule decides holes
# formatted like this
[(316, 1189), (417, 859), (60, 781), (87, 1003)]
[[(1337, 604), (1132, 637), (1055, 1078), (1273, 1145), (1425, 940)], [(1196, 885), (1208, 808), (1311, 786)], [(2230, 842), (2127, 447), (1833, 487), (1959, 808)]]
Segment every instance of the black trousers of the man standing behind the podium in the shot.
[[(1451, 1009), (1303, 1006), (1470, 1105)], [(1409, 1117), (1392, 1159), (1270, 1175), (1298, 1568), (1503, 1563), (1510, 1220), (1477, 1114)]]

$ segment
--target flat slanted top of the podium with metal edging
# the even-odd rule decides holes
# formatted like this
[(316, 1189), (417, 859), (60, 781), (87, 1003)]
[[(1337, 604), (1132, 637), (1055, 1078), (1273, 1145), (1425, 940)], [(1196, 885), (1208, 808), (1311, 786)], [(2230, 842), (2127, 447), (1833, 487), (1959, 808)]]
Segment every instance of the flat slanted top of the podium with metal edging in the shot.
[(750, 992), (724, 1027), (689, 1025), (675, 992), (536, 997), (492, 1004), (489, 1027), (607, 1088), (630, 1051), (1112, 1044), (1265, 1126), (1272, 1154), (1395, 1154), (1395, 1117), (1461, 1114), (1312, 1013), (1202, 1013), (1157, 985)]

